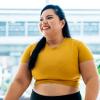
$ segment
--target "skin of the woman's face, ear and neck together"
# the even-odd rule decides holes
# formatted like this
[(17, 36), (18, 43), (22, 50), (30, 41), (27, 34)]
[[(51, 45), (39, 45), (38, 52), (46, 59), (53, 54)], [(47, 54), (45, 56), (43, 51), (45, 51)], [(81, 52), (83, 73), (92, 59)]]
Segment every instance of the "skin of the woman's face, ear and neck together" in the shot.
[(59, 17), (52, 9), (45, 10), (40, 17), (40, 30), (46, 37), (47, 43), (51, 46), (59, 45), (63, 41), (62, 28), (64, 20)]

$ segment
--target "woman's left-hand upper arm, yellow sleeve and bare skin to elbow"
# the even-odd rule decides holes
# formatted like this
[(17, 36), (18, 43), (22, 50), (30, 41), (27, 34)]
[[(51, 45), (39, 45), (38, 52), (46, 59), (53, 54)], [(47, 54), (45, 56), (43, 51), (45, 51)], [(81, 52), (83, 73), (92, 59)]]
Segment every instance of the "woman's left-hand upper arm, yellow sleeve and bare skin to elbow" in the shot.
[(34, 47), (35, 44), (28, 45), (20, 58), (19, 69), (15, 79), (24, 85), (28, 85), (32, 79), (31, 71), (28, 69), (28, 62)]

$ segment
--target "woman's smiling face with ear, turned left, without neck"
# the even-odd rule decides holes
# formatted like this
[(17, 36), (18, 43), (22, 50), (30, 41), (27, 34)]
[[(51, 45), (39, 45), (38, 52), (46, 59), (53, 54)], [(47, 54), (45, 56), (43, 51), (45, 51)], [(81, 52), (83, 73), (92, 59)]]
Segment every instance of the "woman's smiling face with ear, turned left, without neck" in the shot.
[(40, 16), (40, 30), (45, 37), (52, 37), (62, 33), (64, 21), (60, 20), (54, 10), (47, 9)]

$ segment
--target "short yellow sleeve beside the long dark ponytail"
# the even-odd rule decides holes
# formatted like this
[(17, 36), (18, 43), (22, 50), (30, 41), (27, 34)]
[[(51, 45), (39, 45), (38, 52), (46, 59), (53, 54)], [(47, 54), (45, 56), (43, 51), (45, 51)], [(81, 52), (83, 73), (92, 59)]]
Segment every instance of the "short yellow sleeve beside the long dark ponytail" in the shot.
[(24, 52), (21, 55), (20, 63), (27, 63), (29, 61), (31, 53), (34, 48), (35, 44), (30, 44), (25, 48)]

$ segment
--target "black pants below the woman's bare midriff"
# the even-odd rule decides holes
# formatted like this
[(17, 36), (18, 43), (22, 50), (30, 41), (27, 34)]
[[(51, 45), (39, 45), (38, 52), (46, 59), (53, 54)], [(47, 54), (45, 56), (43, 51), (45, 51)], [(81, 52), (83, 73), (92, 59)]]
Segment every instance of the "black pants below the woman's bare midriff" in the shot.
[(82, 98), (80, 92), (61, 96), (44, 96), (32, 91), (30, 100), (82, 100)]

